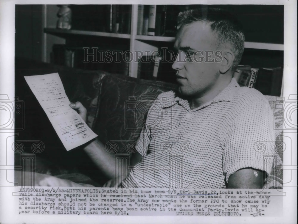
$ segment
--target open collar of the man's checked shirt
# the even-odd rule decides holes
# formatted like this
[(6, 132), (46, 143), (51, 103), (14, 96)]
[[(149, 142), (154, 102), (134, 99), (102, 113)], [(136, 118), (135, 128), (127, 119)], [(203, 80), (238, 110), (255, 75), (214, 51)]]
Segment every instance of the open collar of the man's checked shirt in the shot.
[(213, 98), (212, 100), (208, 101), (207, 103), (194, 108), (194, 109), (190, 109), (190, 105), (189, 102), (186, 99), (182, 99), (179, 96), (176, 95), (176, 93), (173, 92), (173, 98), (170, 100), (170, 105), (164, 105), (162, 108), (169, 108), (175, 104), (180, 104), (181, 106), (183, 106), (187, 111), (197, 111), (200, 110), (206, 106), (209, 106), (210, 104), (213, 103), (217, 103), (217, 102), (221, 102), (221, 101), (232, 101), (232, 96), (235, 93), (235, 90), (240, 87), (239, 84), (237, 83), (235, 78), (232, 78), (231, 82), (226, 86), (226, 88), (224, 88), (223, 91), (221, 91), (221, 93), (219, 93), (215, 98)]

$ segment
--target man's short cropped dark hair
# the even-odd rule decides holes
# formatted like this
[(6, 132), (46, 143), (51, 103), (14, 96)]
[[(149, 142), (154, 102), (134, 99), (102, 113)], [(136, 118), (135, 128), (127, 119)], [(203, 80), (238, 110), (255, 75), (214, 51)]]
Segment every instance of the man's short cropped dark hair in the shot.
[(195, 21), (203, 21), (210, 25), (217, 33), (219, 48), (230, 48), (235, 55), (232, 66), (234, 70), (240, 63), (244, 50), (244, 34), (242, 27), (235, 16), (219, 8), (190, 9), (178, 15), (178, 28)]

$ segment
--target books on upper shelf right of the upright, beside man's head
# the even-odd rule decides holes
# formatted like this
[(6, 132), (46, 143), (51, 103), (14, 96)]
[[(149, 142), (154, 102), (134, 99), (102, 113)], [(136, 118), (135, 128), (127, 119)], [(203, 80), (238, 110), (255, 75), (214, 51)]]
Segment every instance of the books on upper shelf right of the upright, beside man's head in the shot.
[(174, 37), (177, 16), (187, 6), (138, 5), (137, 35)]

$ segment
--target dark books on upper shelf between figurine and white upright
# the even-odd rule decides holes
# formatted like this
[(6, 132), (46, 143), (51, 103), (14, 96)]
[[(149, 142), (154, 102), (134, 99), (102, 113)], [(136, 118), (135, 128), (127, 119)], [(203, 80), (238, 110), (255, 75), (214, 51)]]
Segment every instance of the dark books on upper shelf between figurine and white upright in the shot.
[(70, 5), (72, 29), (130, 34), (131, 5)]

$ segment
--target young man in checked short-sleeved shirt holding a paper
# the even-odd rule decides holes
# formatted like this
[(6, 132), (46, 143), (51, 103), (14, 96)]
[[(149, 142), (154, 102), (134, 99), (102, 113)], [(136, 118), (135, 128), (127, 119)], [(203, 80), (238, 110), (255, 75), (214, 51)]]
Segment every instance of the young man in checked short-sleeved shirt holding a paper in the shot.
[[(262, 188), (270, 170), (264, 153), (273, 153), (271, 109), (260, 92), (232, 78), (244, 49), (239, 25), (218, 9), (188, 10), (178, 22), (172, 66), (178, 93), (162, 93), (153, 103), (134, 168), (115, 176), (114, 156), (96, 139), (84, 150), (111, 177), (107, 187)], [(80, 102), (70, 106), (86, 120)], [(255, 149), (259, 141), (268, 141), (266, 151)]]

